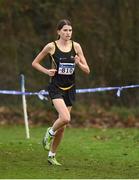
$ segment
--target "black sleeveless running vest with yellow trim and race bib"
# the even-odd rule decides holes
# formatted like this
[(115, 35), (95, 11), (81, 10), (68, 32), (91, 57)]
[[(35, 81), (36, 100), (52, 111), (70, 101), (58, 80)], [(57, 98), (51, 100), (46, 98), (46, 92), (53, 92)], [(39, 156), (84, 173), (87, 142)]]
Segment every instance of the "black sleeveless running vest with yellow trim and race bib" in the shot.
[(55, 52), (50, 55), (51, 62), (54, 68), (56, 68), (55, 75), (51, 78), (51, 83), (55, 84), (59, 88), (70, 88), (75, 84), (75, 61), (76, 55), (73, 41), (72, 48), (69, 52), (62, 52), (56, 42)]

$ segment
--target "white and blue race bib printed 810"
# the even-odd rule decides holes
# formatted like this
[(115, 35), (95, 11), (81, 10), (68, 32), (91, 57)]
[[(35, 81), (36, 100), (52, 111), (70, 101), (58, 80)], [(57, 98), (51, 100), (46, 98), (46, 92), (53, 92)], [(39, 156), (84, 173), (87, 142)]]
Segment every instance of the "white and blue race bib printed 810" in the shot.
[(58, 74), (71, 75), (75, 69), (75, 63), (59, 63)]

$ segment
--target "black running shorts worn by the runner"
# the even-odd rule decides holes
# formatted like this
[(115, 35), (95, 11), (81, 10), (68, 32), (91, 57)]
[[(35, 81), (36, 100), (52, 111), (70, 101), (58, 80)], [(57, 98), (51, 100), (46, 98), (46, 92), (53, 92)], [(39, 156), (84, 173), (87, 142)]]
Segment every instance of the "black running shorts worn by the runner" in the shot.
[(62, 90), (54, 84), (49, 84), (48, 92), (51, 99), (63, 99), (66, 106), (72, 106), (75, 102), (75, 86), (68, 90)]

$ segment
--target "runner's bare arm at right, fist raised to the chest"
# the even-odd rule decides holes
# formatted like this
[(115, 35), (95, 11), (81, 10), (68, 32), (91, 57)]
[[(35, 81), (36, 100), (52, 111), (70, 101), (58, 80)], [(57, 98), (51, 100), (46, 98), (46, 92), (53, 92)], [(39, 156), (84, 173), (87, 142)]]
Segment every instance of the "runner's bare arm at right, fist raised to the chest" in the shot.
[(77, 55), (75, 56), (75, 63), (79, 68), (84, 71), (86, 74), (90, 73), (90, 68), (86, 62), (81, 46), (78, 43), (75, 43), (75, 50)]

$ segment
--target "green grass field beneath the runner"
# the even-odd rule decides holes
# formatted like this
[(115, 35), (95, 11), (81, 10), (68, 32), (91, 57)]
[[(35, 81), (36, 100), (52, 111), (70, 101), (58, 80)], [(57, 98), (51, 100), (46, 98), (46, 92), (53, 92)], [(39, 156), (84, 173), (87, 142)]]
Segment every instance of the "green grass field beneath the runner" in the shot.
[(41, 141), (44, 127), (32, 127), (25, 139), (23, 126), (0, 127), (1, 179), (139, 178), (138, 129), (68, 128), (57, 159), (47, 164)]

